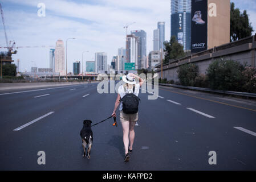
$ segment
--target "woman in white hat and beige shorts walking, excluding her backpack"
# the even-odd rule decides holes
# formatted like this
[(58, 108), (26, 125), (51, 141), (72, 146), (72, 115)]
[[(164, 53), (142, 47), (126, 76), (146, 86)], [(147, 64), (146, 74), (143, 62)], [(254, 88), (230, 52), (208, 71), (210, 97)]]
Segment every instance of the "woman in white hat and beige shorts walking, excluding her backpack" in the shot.
[[(135, 78), (139, 78), (139, 84), (136, 84)], [(135, 114), (126, 114), (123, 111), (123, 104), (120, 103), (121, 98), (123, 98), (128, 93), (133, 93), (135, 96), (139, 96), (140, 86), (143, 84), (144, 80), (139, 76), (128, 73), (127, 76), (123, 76), (122, 80), (124, 84), (119, 86), (118, 94), (115, 102), (115, 108), (113, 110), (112, 116), (116, 117), (116, 109), (120, 104), (120, 122), (123, 127), (123, 141), (124, 141), (124, 150), (125, 150), (125, 162), (129, 161), (129, 152), (132, 152), (132, 146), (135, 138), (134, 127), (136, 121), (138, 120), (138, 113)]]

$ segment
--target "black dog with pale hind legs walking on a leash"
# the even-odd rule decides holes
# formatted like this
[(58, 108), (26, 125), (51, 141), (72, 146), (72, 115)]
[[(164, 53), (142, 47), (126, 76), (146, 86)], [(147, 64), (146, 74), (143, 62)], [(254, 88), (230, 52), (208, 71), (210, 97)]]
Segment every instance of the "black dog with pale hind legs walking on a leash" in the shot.
[(92, 123), (91, 120), (84, 120), (83, 129), (80, 131), (80, 136), (82, 138), (83, 149), (84, 149), (83, 157), (86, 156), (86, 149), (88, 149), (87, 151), (88, 159), (91, 158), (91, 149), (92, 149), (92, 140), (93, 140), (91, 123)]

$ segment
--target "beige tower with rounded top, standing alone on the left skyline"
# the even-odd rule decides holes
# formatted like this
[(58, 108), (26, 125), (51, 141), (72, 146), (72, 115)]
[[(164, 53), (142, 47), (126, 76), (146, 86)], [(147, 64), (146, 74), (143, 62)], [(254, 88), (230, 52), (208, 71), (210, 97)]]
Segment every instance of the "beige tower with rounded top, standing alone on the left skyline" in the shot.
[(55, 61), (54, 61), (54, 72), (60, 73), (60, 76), (66, 75), (65, 71), (65, 51), (64, 51), (64, 43), (62, 40), (57, 40), (56, 45), (55, 45), (55, 51), (54, 51), (54, 56), (55, 56)]

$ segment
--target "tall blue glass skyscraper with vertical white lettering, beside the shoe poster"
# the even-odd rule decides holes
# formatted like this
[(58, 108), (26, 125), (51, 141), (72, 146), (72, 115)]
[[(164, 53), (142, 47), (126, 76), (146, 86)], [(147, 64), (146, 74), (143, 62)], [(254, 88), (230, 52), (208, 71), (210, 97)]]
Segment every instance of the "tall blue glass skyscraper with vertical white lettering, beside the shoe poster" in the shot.
[(184, 51), (191, 49), (191, 0), (170, 0), (170, 36), (173, 35)]

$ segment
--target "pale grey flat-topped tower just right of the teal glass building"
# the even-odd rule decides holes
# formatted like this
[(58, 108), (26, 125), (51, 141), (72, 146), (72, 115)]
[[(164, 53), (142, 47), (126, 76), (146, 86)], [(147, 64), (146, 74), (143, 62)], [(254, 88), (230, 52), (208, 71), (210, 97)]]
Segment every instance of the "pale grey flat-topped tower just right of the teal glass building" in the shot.
[(96, 73), (100, 73), (108, 70), (107, 53), (105, 52), (95, 53), (95, 70), (96, 70)]

